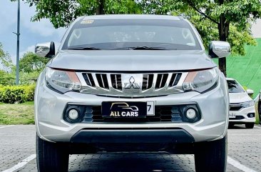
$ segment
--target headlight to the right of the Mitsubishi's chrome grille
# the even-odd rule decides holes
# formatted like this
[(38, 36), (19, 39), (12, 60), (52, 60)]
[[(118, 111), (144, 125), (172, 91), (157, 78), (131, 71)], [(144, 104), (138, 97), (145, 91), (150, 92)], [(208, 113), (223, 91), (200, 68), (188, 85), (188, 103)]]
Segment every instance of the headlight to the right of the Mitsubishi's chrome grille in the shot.
[(184, 83), (184, 91), (198, 91), (203, 93), (218, 84), (218, 68), (188, 73)]

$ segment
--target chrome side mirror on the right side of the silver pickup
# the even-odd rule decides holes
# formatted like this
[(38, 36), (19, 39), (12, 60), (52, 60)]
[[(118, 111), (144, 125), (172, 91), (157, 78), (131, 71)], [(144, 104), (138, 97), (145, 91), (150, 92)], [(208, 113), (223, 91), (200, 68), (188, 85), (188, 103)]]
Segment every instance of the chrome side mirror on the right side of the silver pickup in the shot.
[(225, 41), (211, 41), (208, 49), (211, 58), (222, 58), (230, 55), (230, 44)]

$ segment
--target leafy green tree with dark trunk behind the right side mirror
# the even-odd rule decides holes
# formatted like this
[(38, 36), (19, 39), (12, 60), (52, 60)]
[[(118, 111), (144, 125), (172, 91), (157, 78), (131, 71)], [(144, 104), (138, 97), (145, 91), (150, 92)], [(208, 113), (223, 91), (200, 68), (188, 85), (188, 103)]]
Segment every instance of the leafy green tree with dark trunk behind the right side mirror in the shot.
[[(208, 20), (206, 34), (216, 34), (218, 30), (218, 40), (229, 41), (234, 54), (245, 55), (245, 44), (256, 44), (252, 39), (250, 23), (260, 17), (259, 0), (182, 0), (175, 9), (185, 13), (188, 11), (197, 13), (196, 16), (201, 18), (198, 24), (198, 28), (201, 29), (204, 22), (206, 23), (205, 20)], [(219, 66), (226, 76), (225, 58), (219, 59)]]

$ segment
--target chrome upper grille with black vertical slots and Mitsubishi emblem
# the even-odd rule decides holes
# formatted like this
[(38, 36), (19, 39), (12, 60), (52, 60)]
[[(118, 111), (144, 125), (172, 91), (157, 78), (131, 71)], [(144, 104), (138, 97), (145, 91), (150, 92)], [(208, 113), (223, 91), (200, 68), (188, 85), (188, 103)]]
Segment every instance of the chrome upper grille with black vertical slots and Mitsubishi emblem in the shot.
[(101, 96), (138, 97), (164, 96), (183, 92), (187, 72), (112, 74), (76, 72), (80, 79), (81, 93)]

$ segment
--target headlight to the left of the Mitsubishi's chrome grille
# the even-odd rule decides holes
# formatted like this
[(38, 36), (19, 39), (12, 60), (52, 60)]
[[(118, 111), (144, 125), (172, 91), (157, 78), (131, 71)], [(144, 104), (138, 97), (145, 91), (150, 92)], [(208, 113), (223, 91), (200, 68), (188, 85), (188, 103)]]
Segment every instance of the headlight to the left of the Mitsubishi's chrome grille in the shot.
[(46, 86), (60, 93), (81, 90), (81, 82), (74, 71), (63, 71), (48, 67), (46, 67)]

